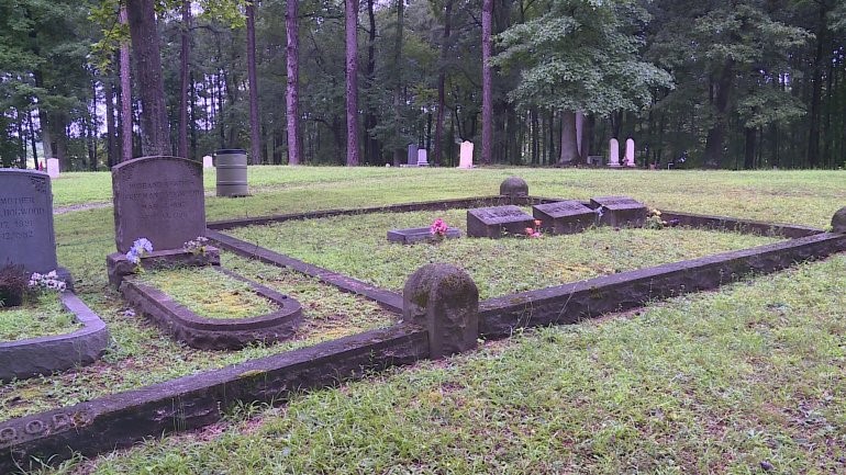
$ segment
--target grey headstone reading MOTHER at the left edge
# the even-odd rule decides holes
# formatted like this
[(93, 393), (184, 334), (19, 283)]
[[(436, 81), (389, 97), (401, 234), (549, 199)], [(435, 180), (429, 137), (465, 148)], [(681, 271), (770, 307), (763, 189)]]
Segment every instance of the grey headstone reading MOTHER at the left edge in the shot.
[(58, 267), (47, 173), (0, 170), (0, 267), (7, 264), (40, 273)]

